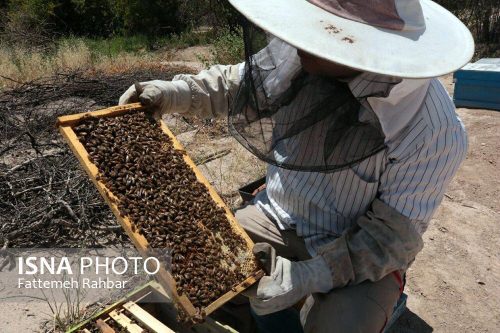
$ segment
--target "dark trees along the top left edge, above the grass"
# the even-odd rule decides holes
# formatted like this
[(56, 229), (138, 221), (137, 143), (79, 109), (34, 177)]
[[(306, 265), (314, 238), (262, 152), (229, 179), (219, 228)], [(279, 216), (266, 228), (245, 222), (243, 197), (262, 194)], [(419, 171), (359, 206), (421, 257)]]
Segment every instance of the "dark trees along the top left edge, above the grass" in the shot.
[(18, 27), (78, 36), (178, 34), (201, 25), (236, 31), (239, 18), (227, 0), (0, 0), (1, 8)]

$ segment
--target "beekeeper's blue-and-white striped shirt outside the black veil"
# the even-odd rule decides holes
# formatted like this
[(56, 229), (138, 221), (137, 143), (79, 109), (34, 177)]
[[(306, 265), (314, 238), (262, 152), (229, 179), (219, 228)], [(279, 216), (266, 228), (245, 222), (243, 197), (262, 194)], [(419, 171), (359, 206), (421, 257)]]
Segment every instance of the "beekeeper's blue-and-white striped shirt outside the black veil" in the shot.
[[(375, 198), (409, 217), (423, 233), (467, 151), (465, 129), (437, 79), (366, 73), (348, 84), (358, 98), (382, 96), (368, 97), (360, 117), (380, 122), (386, 149), (333, 173), (269, 165), (266, 191), (256, 198), (280, 228), (295, 229), (304, 238), (313, 256), (319, 246), (352, 227)], [(295, 105), (313, 94), (301, 96)], [(312, 159), (323, 156), (322, 147), (298, 147), (286, 151)]]

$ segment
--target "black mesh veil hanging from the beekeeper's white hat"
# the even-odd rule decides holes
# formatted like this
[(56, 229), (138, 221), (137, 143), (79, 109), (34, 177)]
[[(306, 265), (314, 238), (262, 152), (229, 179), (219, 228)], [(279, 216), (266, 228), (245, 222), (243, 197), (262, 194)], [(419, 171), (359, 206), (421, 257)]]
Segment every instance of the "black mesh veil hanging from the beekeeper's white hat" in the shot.
[(384, 149), (380, 125), (359, 120), (361, 101), (345, 82), (306, 73), (294, 47), (242, 25), (245, 66), (228, 123), (245, 148), (281, 168), (319, 172)]

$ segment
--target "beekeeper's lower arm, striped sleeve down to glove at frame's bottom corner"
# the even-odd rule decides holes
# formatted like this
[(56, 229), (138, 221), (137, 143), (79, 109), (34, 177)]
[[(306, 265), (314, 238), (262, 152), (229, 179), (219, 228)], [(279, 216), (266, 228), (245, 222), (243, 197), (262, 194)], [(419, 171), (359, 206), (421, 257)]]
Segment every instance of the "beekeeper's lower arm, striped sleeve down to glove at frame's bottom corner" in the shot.
[(459, 124), (420, 139), (402, 153), (389, 154), (378, 197), (354, 227), (320, 247), (310, 260), (277, 258), (276, 269), (261, 279), (250, 299), (257, 314), (285, 309), (311, 293), (406, 271), (422, 249), (421, 235), (467, 150)]

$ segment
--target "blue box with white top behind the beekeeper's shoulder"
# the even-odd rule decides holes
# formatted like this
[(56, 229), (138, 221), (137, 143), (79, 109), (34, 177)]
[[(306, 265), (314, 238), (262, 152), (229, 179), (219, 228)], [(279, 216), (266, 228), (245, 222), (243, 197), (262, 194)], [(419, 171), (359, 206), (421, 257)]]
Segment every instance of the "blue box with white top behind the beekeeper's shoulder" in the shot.
[(500, 59), (485, 58), (455, 72), (457, 107), (500, 110)]

